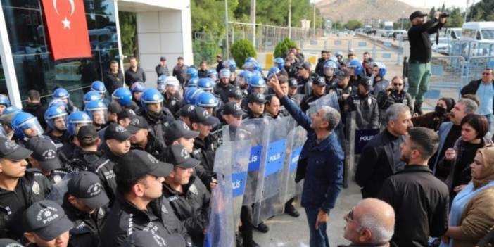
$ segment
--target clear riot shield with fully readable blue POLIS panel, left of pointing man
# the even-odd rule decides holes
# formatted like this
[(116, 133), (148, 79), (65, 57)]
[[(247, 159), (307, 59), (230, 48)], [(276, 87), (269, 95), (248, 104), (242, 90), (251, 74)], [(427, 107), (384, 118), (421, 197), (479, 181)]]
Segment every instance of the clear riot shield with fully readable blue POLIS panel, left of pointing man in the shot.
[(285, 202), (281, 198), (281, 186), (283, 184), (283, 172), (286, 154), (286, 137), (289, 134), (290, 122), (293, 118), (277, 118), (271, 120), (269, 132), (267, 132), (268, 142), (264, 154), (265, 165), (260, 170), (262, 177), (258, 182), (258, 189), (261, 189), (261, 200), (255, 203), (254, 224), (257, 225), (262, 220), (283, 213)]

